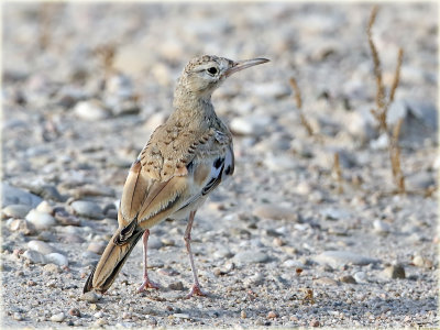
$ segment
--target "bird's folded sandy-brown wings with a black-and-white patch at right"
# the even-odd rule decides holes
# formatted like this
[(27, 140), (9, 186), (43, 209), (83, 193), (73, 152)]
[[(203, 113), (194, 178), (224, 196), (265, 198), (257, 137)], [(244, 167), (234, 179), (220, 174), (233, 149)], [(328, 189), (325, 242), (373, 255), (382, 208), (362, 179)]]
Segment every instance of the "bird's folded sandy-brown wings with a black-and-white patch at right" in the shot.
[[(212, 150), (211, 150), (212, 148)], [(198, 156), (199, 151), (209, 156)], [(141, 153), (127, 178), (119, 212), (122, 228), (119, 243), (123, 243), (135, 228), (147, 229), (170, 218), (212, 191), (226, 176), (232, 175), (234, 157), (231, 144), (221, 145), (213, 139), (198, 143), (184, 170), (176, 168), (167, 180), (160, 180), (144, 168), (148, 160)]]

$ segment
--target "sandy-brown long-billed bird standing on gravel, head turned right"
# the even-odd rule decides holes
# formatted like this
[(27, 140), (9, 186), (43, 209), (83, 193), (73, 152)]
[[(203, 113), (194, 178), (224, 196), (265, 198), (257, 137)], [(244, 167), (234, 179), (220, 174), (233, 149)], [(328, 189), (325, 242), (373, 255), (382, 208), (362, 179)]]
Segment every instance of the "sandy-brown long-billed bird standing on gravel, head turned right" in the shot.
[(232, 134), (211, 102), (212, 92), (232, 74), (270, 62), (197, 56), (182, 72), (173, 112), (152, 133), (132, 163), (118, 209), (118, 229), (82, 292), (103, 294), (113, 284), (133, 248), (143, 242), (143, 283), (138, 293), (160, 288), (147, 274), (150, 229), (166, 220), (188, 220), (184, 234), (194, 283), (186, 298), (206, 296), (191, 252), (191, 228), (198, 208), (234, 172)]

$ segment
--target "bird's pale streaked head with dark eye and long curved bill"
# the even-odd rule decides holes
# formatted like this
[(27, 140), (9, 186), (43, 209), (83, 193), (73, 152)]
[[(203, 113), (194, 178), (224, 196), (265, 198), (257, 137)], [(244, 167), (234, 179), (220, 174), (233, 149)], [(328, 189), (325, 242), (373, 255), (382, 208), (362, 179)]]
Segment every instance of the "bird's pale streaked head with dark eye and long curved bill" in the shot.
[(186, 92), (196, 97), (210, 97), (212, 91), (232, 74), (266, 62), (268, 62), (266, 58), (232, 61), (215, 55), (199, 56), (185, 66), (178, 88), (183, 87)]

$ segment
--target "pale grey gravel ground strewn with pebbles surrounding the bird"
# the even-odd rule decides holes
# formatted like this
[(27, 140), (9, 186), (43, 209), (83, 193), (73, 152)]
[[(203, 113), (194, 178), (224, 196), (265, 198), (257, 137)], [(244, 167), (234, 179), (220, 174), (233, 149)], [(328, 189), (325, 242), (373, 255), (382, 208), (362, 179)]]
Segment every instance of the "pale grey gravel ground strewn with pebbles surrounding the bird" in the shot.
[[(371, 7), (3, 4), (2, 328), (439, 327), (438, 9), (383, 4), (373, 28), (386, 86), (405, 52), (388, 116), (403, 119), (397, 195), (370, 113)], [(82, 296), (131, 162), (200, 54), (271, 59), (213, 96), (237, 169), (193, 231), (209, 296), (183, 299), (184, 221), (152, 229), (161, 289), (135, 294), (139, 244), (108, 294)]]

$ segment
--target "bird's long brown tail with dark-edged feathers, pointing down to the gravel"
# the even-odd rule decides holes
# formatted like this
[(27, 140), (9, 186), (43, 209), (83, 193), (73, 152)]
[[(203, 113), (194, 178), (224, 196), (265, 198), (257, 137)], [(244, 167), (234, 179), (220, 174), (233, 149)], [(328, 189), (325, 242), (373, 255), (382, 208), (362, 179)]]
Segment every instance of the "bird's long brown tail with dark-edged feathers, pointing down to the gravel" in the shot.
[(105, 293), (113, 284), (128, 256), (130, 255), (143, 231), (133, 231), (129, 238), (121, 240), (124, 229), (118, 230), (103, 251), (101, 258), (87, 278), (82, 293), (95, 289)]

